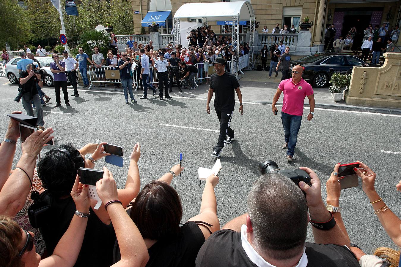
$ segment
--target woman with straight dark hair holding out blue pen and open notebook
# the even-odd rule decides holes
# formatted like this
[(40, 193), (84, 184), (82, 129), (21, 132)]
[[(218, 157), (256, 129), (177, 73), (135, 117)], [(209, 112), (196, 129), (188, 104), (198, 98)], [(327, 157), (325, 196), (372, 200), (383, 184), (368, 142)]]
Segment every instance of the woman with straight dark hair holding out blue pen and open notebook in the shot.
[[(214, 174), (206, 179), (200, 214), (180, 227), (182, 205), (170, 183), (182, 169), (179, 164), (174, 165), (160, 179), (145, 185), (127, 210), (148, 248), (150, 259), (146, 266), (195, 266), (196, 255), (205, 240), (220, 229), (214, 191), (219, 177)], [(119, 260), (118, 243), (114, 260)]]

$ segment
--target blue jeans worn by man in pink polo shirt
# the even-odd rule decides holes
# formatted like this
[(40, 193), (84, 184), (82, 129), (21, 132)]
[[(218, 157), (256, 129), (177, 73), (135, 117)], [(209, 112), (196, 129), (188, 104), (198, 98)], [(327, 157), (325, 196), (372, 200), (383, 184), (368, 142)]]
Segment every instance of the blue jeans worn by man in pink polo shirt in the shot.
[(281, 112), (281, 120), (284, 128), (284, 138), (288, 143), (287, 155), (294, 156), (295, 145), (297, 144), (298, 132), (301, 128), (302, 116), (290, 115)]

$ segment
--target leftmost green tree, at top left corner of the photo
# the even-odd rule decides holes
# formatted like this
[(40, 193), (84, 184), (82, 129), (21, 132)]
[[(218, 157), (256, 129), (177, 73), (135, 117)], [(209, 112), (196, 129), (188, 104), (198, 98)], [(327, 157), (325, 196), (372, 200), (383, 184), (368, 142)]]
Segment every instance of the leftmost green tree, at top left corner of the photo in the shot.
[(1, 2), (0, 46), (4, 48), (6, 42), (8, 42), (12, 50), (16, 50), (32, 37), (30, 23), (26, 20), (27, 12), (18, 5), (16, 0)]

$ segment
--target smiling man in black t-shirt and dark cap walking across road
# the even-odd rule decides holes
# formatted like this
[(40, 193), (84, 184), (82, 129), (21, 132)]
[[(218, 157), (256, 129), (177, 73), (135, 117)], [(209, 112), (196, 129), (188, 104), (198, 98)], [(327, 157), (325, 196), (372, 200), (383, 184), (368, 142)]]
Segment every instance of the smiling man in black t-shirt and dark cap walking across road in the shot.
[(220, 121), (220, 135), (217, 145), (213, 149), (212, 157), (220, 157), (221, 149), (227, 143), (231, 143), (234, 138), (234, 130), (231, 129), (231, 117), (234, 111), (234, 90), (237, 92), (239, 100), (239, 112), (243, 111), (242, 94), (239, 90), (239, 83), (237, 78), (224, 70), (225, 60), (224, 58), (216, 58), (214, 65), (216, 73), (210, 77), (210, 88), (207, 94), (207, 104), (206, 111), (210, 114), (210, 101), (215, 93), (215, 110), (217, 113), (217, 118)]

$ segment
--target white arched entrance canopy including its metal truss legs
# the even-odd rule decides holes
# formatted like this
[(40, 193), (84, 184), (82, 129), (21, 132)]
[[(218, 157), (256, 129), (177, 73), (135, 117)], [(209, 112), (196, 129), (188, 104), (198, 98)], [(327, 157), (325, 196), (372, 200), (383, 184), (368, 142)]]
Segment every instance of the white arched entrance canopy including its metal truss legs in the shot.
[(180, 20), (181, 19), (203, 19), (203, 24), (207, 21), (232, 21), (233, 27), (233, 58), (232, 73), (238, 75), (238, 48), (239, 48), (239, 24), (240, 20), (250, 21), (249, 31), (249, 62), (248, 67), (253, 62), (253, 42), (255, 40), (255, 13), (250, 2), (212, 2), (212, 3), (188, 3), (180, 6), (174, 14), (174, 42), (180, 42)]

